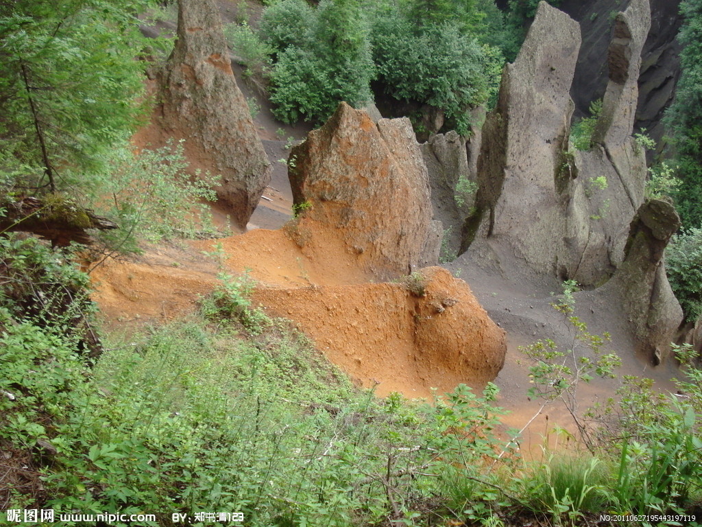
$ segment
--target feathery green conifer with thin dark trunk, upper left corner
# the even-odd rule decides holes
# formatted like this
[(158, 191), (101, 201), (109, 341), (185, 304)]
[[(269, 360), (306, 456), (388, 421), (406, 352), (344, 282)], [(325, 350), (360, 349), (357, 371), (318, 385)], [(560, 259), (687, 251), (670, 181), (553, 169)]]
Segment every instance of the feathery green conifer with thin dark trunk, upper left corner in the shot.
[(0, 184), (48, 188), (98, 167), (140, 112), (135, 13), (147, 0), (0, 3)]

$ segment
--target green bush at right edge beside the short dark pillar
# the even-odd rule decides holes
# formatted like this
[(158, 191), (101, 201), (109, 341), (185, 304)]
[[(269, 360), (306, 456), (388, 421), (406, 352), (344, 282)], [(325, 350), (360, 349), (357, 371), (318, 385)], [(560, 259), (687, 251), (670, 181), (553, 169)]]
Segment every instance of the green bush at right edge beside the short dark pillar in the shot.
[(665, 271), (686, 320), (702, 315), (702, 228), (674, 235), (665, 249)]

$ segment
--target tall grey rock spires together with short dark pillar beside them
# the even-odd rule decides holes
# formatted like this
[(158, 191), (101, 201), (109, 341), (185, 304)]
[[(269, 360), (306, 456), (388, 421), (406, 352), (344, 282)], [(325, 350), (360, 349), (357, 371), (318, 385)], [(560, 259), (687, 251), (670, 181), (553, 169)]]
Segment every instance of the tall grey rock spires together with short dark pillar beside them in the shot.
[(662, 263), (679, 220), (666, 202), (644, 203), (644, 149), (632, 136), (649, 25), (648, 0), (616, 15), (602, 116), (582, 152), (569, 143), (578, 27), (539, 4), (486, 119), (462, 259), (535, 284), (606, 284), (596, 292), (621, 306), (640, 349), (660, 358), (682, 320)]

